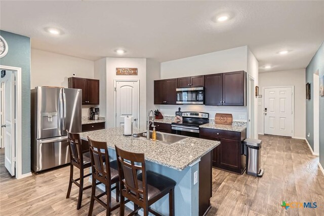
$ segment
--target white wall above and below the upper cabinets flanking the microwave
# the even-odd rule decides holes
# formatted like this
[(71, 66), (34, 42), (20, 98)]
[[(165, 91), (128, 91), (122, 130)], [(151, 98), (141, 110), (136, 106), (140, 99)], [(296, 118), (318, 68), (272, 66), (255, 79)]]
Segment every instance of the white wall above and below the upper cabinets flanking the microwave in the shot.
[[(248, 70), (248, 47), (238, 47), (162, 62), (160, 79), (217, 74), (237, 70), (245, 70), (248, 73), (251, 71), (257, 77), (258, 72), (255, 68), (258, 68), (258, 66), (255, 66), (255, 63), (257, 61), (250, 61)], [(164, 115), (175, 115), (178, 107), (181, 107), (181, 111), (209, 113), (210, 118), (213, 118), (216, 113), (231, 113), (234, 120), (247, 120), (247, 106), (160, 105), (160, 111)], [(240, 115), (243, 115), (244, 119), (239, 119)]]

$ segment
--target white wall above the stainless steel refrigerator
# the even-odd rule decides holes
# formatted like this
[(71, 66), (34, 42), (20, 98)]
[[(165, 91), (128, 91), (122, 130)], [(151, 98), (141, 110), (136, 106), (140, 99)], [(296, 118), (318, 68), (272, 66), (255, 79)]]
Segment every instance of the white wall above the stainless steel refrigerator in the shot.
[[(67, 88), (67, 78), (94, 78), (94, 62), (82, 58), (31, 49), (30, 88), (61, 86)], [(82, 116), (88, 116), (90, 105), (82, 106)]]

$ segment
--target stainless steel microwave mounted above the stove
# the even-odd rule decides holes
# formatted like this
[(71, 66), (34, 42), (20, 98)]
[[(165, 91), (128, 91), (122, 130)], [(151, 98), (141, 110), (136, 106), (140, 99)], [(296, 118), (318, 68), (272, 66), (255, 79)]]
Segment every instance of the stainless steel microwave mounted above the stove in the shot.
[(178, 88), (177, 104), (204, 104), (204, 87), (199, 88)]

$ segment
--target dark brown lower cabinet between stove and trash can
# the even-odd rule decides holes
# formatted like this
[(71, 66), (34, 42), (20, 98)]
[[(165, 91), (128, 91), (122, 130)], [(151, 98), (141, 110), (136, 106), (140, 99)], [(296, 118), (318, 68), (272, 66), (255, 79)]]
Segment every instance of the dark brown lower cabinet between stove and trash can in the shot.
[(241, 132), (200, 128), (200, 138), (220, 141), (212, 151), (212, 165), (217, 168), (242, 174), (246, 166), (242, 141), (246, 139), (246, 130)]

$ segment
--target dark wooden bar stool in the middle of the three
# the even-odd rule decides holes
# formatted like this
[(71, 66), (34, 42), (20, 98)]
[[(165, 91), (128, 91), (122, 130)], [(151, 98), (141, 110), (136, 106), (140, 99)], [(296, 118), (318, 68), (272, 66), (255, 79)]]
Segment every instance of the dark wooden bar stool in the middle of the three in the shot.
[[(106, 215), (119, 208), (120, 204), (111, 207), (111, 191), (116, 189), (116, 202), (119, 202), (119, 175), (117, 161), (109, 161), (107, 142), (99, 142), (89, 138), (90, 158), (92, 167), (92, 193), (89, 214), (92, 215), (95, 200), (104, 206)], [(106, 158), (104, 164), (103, 158)], [(106, 191), (96, 196), (96, 181), (105, 185)], [(111, 188), (111, 185), (116, 184)], [(107, 202), (104, 203), (100, 197), (107, 195)]]

